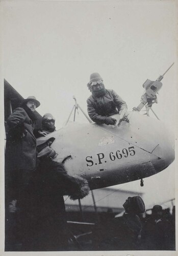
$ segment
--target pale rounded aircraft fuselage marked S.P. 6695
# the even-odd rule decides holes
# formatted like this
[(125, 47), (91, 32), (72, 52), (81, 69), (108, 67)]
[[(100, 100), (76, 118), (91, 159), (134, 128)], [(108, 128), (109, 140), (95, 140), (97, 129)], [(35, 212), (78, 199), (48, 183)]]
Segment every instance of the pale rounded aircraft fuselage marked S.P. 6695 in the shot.
[[(114, 115), (113, 117), (117, 117)], [(86, 178), (91, 189), (143, 179), (174, 160), (174, 140), (160, 120), (129, 113), (129, 123), (112, 127), (69, 123), (37, 140), (55, 138), (51, 147), (70, 175)]]

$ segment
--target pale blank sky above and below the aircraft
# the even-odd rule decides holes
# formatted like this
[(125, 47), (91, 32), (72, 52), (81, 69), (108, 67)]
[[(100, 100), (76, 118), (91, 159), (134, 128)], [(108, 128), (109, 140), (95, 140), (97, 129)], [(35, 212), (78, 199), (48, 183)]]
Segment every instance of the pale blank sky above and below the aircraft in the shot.
[[(87, 113), (91, 73), (98, 72), (105, 87), (115, 90), (132, 111), (140, 103), (145, 80), (156, 80), (175, 62), (162, 80), (159, 103), (153, 106), (174, 130), (174, 1), (5, 1), (1, 5), (3, 78), (24, 98), (35, 95), (41, 102), (37, 111), (52, 113), (57, 129), (70, 114), (73, 95)], [(88, 122), (80, 110), (76, 120)], [(149, 208), (175, 197), (174, 169), (172, 163), (144, 179), (144, 187), (135, 181), (114, 188), (144, 193)]]

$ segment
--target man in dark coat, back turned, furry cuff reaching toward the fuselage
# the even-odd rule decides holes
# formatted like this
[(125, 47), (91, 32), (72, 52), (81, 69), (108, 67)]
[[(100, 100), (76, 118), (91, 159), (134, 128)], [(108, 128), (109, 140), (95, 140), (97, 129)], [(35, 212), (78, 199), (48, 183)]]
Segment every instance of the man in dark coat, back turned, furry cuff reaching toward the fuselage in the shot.
[(87, 180), (67, 174), (62, 163), (56, 161), (56, 152), (45, 146), (38, 154), (39, 166), (32, 181), (31, 203), (32, 250), (64, 251), (68, 250), (68, 238), (65, 203), (63, 196), (70, 199), (82, 199), (89, 194)]

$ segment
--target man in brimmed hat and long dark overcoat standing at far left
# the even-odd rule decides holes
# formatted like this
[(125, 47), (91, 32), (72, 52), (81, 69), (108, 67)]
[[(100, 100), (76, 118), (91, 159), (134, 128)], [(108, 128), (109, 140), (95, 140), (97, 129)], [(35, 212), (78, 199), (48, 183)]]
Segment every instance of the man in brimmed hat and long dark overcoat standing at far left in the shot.
[[(27, 198), (29, 182), (36, 168), (36, 138), (34, 112), (40, 102), (30, 96), (24, 99), (7, 120), (8, 134), (6, 143), (6, 250), (15, 250), (17, 229), (19, 238), (27, 238), (28, 225)], [(18, 210), (17, 210), (18, 209)], [(9, 212), (10, 211), (10, 212)], [(12, 222), (10, 221), (12, 219)]]

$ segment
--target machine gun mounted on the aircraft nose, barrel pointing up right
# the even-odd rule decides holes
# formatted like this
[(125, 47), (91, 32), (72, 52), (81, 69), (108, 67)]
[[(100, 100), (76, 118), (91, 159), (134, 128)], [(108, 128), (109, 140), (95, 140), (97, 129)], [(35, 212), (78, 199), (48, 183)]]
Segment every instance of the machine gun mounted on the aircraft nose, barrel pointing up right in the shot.
[[(160, 75), (156, 81), (151, 81), (147, 79), (143, 83), (143, 88), (145, 89), (145, 92), (141, 96), (141, 102), (136, 107), (133, 108), (134, 111), (140, 111), (144, 106), (146, 107), (146, 114), (149, 116), (149, 109), (151, 109), (151, 106), (153, 103), (158, 103), (157, 93), (162, 87), (161, 80), (163, 79), (164, 75), (167, 73), (167, 71), (174, 65), (174, 62), (172, 65), (164, 72), (163, 75)], [(151, 109), (151, 111), (155, 114), (155, 112)], [(156, 115), (156, 114), (155, 114)], [(158, 116), (156, 115), (158, 118)], [(159, 118), (158, 118), (159, 119)]]

